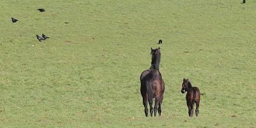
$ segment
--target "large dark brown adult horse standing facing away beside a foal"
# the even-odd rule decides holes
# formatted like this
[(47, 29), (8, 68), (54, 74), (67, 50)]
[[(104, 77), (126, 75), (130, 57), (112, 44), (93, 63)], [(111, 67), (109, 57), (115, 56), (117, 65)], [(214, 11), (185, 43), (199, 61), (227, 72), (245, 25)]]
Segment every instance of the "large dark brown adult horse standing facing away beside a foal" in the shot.
[(140, 92), (143, 99), (143, 105), (145, 108), (145, 115), (148, 116), (148, 107), (150, 106), (150, 116), (153, 114), (153, 99), (155, 99), (154, 106), (154, 116), (158, 114), (161, 116), (161, 105), (163, 102), (164, 94), (164, 81), (162, 79), (161, 73), (159, 72), (159, 63), (161, 58), (160, 47), (157, 49), (151, 48), (152, 61), (150, 69), (144, 70), (140, 76)]

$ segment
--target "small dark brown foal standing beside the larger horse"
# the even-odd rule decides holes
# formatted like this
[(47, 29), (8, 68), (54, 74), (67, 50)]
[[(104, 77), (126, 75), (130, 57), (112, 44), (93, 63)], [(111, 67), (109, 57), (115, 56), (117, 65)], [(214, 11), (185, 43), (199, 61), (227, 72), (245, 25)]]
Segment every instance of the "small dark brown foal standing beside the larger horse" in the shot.
[(181, 93), (187, 92), (186, 100), (188, 106), (189, 117), (193, 116), (194, 104), (196, 103), (196, 116), (199, 114), (200, 91), (199, 88), (193, 87), (189, 79), (183, 79)]

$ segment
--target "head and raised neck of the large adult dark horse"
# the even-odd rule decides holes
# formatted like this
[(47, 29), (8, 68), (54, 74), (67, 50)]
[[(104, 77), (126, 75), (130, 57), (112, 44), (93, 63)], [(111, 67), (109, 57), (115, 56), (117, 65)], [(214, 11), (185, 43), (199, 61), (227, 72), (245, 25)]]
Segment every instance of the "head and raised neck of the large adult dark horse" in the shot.
[(152, 47), (151, 47), (150, 54), (152, 54), (150, 68), (156, 68), (157, 70), (159, 70), (159, 63), (160, 63), (160, 58), (161, 58), (160, 47), (158, 47), (157, 49), (152, 49)]

